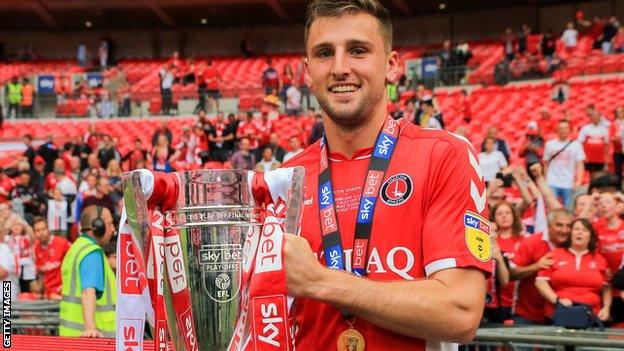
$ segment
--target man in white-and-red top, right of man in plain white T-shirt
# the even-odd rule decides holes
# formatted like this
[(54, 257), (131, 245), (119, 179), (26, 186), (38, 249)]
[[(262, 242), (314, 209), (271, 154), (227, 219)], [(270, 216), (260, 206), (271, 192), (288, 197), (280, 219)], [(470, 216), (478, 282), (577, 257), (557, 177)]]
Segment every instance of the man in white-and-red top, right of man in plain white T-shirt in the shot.
[(603, 119), (594, 105), (587, 105), (585, 112), (590, 123), (581, 128), (577, 141), (585, 150), (585, 168), (593, 174), (605, 169), (609, 159), (609, 122)]

